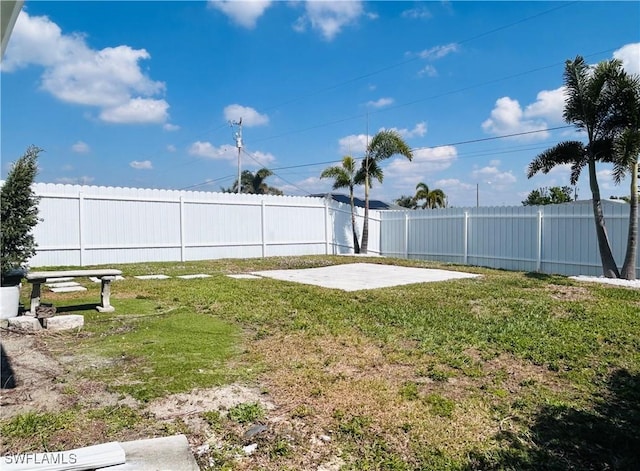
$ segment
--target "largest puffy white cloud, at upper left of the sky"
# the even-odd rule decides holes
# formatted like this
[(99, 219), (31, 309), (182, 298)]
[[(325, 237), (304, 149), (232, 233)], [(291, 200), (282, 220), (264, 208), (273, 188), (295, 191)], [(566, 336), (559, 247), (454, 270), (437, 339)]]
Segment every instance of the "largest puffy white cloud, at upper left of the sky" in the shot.
[[(100, 116), (111, 116), (112, 110), (132, 108), (136, 100), (164, 93), (165, 84), (151, 80), (140, 68), (139, 62), (150, 57), (144, 49), (125, 45), (91, 49), (83, 35), (64, 34), (46, 16), (30, 16), (22, 10), (2, 70), (41, 66), (43, 90), (67, 103), (99, 107)], [(166, 104), (164, 100), (152, 101)], [(168, 106), (160, 115), (162, 120), (166, 120)], [(163, 122), (157, 114), (146, 116), (149, 121), (139, 116), (133, 121), (114, 122)]]

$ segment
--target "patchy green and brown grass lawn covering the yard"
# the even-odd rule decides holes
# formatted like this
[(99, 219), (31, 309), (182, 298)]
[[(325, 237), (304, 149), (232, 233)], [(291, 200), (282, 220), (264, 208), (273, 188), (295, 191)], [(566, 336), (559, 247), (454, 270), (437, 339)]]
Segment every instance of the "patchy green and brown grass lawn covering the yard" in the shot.
[[(79, 362), (69, 377), (138, 405), (5, 419), (4, 452), (63, 447), (70, 442), (56, 434), (96, 421), (116, 439), (127, 430), (190, 434), (180, 418), (158, 425), (145, 405), (241, 383), (268, 394), (277, 414), (247, 404), (203, 415), (198, 439), (228, 445), (199, 458), (203, 469), (316, 469), (332, 456), (353, 470), (640, 468), (640, 290), (378, 258), (370, 261), (482, 277), (343, 292), (225, 276), (355, 261), (363, 259), (117, 266), (126, 280), (112, 286), (116, 311), (78, 311), (82, 332), (45, 343), (54, 356), (91, 358), (94, 367)], [(149, 273), (212, 277), (133, 278)], [(87, 286), (43, 300), (74, 312), (99, 298), (99, 286)], [(255, 454), (235, 459), (252, 422), (269, 433)], [(310, 445), (317, 436), (331, 440)]]

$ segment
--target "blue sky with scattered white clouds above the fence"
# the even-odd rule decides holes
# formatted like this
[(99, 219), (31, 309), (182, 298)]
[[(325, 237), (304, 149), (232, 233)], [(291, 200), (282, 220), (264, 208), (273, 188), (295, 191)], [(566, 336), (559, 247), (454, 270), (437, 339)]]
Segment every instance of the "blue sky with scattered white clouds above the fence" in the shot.
[[(242, 117), (242, 168), (285, 194), (329, 191), (324, 168), (395, 128), (415, 157), (386, 161), (373, 198), (425, 182), (453, 206), (477, 186), (481, 205), (519, 205), (568, 184), (525, 174), (580, 137), (562, 127), (565, 60), (640, 73), (639, 25), (640, 2), (26, 1), (0, 75), (2, 176), (35, 144), (41, 182), (219, 191)], [(599, 170), (603, 196), (628, 193)]]

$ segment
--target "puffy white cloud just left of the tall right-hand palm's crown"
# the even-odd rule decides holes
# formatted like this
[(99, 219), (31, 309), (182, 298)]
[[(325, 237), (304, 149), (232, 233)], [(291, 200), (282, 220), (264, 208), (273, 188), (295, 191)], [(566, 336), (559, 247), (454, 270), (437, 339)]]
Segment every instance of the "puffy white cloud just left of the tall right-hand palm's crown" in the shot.
[[(526, 119), (517, 100), (502, 97), (496, 101), (491, 117), (482, 123), (482, 129), (489, 134), (508, 135), (526, 133), (546, 129), (547, 124), (541, 119)], [(546, 139), (548, 132), (538, 132), (518, 136), (523, 140)]]

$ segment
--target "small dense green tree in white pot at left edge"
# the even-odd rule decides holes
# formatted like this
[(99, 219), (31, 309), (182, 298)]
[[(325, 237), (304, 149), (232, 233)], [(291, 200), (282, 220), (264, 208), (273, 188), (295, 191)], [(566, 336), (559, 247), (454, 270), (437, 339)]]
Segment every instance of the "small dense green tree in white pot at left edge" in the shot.
[(39, 198), (31, 186), (38, 173), (38, 154), (42, 149), (29, 146), (16, 160), (2, 186), (1, 268), (2, 284), (10, 277), (21, 278), (27, 262), (36, 253), (33, 228), (38, 224)]

